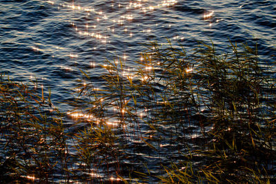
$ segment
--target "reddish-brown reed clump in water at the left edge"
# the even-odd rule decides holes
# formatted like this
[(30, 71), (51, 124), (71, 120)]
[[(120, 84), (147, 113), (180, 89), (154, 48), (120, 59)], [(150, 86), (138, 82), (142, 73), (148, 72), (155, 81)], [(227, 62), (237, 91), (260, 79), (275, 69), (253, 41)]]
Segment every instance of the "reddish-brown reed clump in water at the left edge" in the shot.
[[(0, 76), (0, 181), (66, 179), (66, 136), (50, 92)], [(59, 175), (57, 177), (57, 175)]]

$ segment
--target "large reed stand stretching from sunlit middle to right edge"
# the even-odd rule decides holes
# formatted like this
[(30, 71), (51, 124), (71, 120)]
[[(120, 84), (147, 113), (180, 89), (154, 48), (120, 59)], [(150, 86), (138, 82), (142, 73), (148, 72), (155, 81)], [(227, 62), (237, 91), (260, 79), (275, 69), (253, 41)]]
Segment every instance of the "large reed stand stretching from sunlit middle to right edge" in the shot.
[(78, 145), (79, 154), (118, 181), (275, 181), (275, 65), (231, 42), (191, 52), (152, 43), (136, 68), (106, 61), (101, 89), (83, 72), (90, 83), (77, 87), (76, 103), (89, 118), (79, 137), (94, 148)]

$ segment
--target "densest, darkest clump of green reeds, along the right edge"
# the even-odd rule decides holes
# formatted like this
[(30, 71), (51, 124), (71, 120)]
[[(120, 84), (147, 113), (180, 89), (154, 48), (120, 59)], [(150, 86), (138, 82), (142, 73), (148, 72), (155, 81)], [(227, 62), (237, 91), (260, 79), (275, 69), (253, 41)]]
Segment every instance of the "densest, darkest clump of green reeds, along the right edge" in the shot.
[(207, 97), (213, 125), (209, 150), (202, 150), (204, 170), (219, 181), (269, 181), (275, 172), (275, 79), (261, 67), (257, 48), (231, 43), (229, 53), (218, 54), (214, 45), (200, 45), (195, 60), (204, 89), (199, 95)]

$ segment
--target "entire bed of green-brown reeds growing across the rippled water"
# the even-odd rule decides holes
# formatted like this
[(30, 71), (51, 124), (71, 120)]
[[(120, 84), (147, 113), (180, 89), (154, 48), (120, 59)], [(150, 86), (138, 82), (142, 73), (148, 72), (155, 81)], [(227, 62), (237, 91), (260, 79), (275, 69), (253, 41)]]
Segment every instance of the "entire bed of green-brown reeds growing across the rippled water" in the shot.
[(152, 43), (137, 68), (107, 61), (101, 88), (81, 70), (73, 125), (50, 92), (2, 77), (0, 180), (275, 182), (275, 64), (236, 43), (191, 52)]

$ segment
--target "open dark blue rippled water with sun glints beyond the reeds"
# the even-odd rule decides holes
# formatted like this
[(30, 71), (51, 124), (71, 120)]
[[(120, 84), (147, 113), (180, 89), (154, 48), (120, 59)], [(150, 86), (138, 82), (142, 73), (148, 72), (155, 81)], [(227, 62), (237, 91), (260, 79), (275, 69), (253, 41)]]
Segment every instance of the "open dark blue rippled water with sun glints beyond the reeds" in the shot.
[[(261, 57), (275, 52), (275, 1), (1, 1), (0, 72), (51, 88), (53, 101), (70, 99), (81, 75), (103, 72), (106, 59), (129, 67), (149, 41), (212, 39), (258, 43)], [(269, 58), (268, 58), (269, 59)], [(97, 80), (95, 80), (97, 83)], [(100, 83), (99, 83), (100, 85)], [(67, 108), (60, 105), (60, 108)]]

